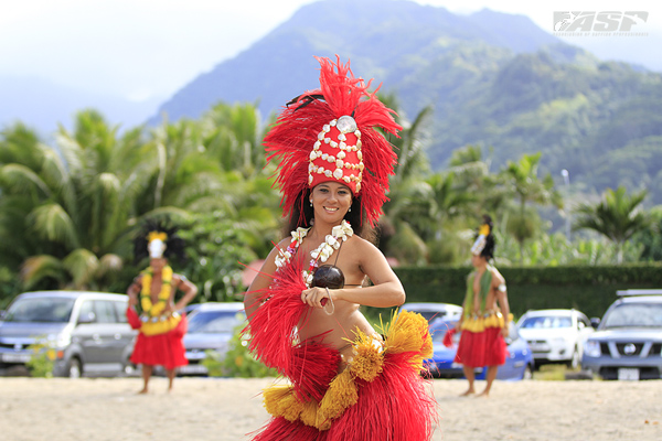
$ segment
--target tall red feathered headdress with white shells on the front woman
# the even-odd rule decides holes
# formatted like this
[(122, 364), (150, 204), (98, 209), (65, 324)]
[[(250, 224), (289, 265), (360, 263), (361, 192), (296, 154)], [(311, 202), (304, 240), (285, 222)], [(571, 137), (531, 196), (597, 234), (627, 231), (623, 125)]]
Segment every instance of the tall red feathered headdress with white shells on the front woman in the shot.
[[(376, 127), (397, 136), (402, 127), (395, 111), (367, 93), (350, 64), (316, 57), (321, 65), (320, 88), (287, 104), (265, 137), (270, 155), (278, 159), (277, 183), (282, 191), (284, 216), (292, 213), (297, 196), (306, 189), (337, 181), (361, 196), (362, 209), (374, 226), (388, 201), (388, 178), (396, 155)], [(378, 89), (378, 88), (377, 88)], [(303, 200), (300, 200), (303, 203)]]

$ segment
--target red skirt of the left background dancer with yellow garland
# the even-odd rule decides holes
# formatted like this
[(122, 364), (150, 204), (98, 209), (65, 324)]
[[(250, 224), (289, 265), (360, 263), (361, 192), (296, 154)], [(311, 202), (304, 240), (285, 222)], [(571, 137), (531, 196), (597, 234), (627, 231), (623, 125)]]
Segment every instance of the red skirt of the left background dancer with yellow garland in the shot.
[(177, 327), (166, 334), (147, 336), (139, 333), (134, 346), (131, 362), (135, 364), (163, 366), (166, 369), (174, 369), (175, 367), (188, 365), (189, 361), (184, 355), (185, 349), (182, 343), (186, 329), (186, 316), (182, 315), (182, 320)]

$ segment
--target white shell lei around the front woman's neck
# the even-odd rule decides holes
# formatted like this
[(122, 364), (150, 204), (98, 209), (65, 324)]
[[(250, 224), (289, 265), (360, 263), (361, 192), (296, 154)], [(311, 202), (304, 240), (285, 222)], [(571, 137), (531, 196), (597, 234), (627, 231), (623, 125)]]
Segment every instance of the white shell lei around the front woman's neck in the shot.
[[(299, 227), (296, 232), (291, 233), (292, 241), (290, 243), (290, 245), (285, 250), (278, 250), (278, 256), (276, 256), (275, 259), (277, 267), (276, 270), (282, 268), (290, 261), (290, 259), (297, 251), (297, 248), (299, 248), (299, 246), (303, 241), (303, 238), (306, 237), (306, 235), (308, 235), (309, 230), (310, 228)], [(354, 230), (352, 229), (350, 223), (343, 219), (340, 223), (340, 225), (333, 227), (330, 235), (327, 235), (327, 237), (324, 237), (324, 241), (321, 243), (319, 247), (310, 251), (310, 266), (308, 270), (303, 271), (302, 275), (303, 280), (306, 281), (306, 286), (310, 287), (310, 283), (312, 282), (312, 273), (318, 267), (318, 262), (321, 260), (323, 263), (327, 260), (329, 260), (329, 257), (331, 257), (333, 251), (340, 248), (340, 245), (353, 234)]]

